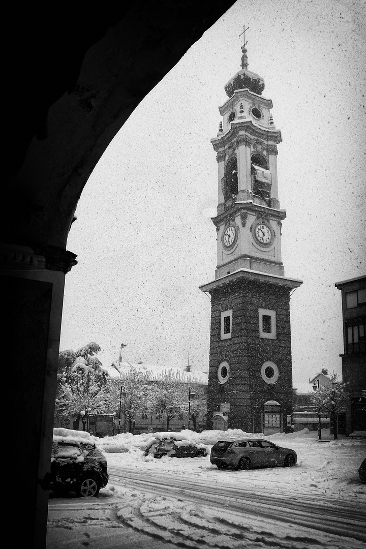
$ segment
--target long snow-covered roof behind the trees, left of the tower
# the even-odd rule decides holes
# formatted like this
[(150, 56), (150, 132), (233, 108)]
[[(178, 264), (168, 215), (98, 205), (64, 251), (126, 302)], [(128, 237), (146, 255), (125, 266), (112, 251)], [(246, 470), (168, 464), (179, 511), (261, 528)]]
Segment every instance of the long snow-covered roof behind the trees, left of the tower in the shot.
[(181, 375), (181, 378), (183, 380), (183, 383), (192, 383), (192, 384), (199, 384), (199, 385), (207, 385), (209, 382), (209, 372), (200, 372), (200, 371), (190, 371), (187, 372), (185, 368), (178, 368), (178, 367), (171, 367), (167, 368), (165, 366), (156, 366), (151, 365), (148, 363), (133, 363), (133, 362), (121, 362), (118, 361), (112, 362), (111, 366), (105, 367), (103, 366), (103, 371), (108, 373), (108, 375), (112, 379), (119, 379), (120, 374), (128, 372), (129, 369), (134, 368), (137, 371), (141, 372), (151, 372), (151, 375), (149, 377), (150, 381), (156, 381), (159, 379), (159, 376), (161, 376), (164, 372), (172, 372), (172, 373), (179, 373)]

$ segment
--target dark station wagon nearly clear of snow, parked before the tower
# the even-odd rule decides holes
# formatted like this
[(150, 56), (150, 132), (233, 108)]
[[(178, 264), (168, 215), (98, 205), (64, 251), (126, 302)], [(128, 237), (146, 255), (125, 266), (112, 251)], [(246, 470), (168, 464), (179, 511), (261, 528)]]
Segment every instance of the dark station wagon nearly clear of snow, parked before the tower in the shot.
[(297, 454), (263, 439), (219, 440), (212, 446), (210, 461), (218, 469), (252, 467), (292, 467)]

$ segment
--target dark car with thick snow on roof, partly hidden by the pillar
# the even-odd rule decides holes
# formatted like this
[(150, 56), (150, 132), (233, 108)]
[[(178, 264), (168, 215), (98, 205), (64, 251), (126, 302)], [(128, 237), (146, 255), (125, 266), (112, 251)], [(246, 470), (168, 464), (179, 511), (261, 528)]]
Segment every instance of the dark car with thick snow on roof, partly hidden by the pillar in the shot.
[(108, 483), (107, 461), (84, 431), (53, 429), (50, 489), (96, 497)]

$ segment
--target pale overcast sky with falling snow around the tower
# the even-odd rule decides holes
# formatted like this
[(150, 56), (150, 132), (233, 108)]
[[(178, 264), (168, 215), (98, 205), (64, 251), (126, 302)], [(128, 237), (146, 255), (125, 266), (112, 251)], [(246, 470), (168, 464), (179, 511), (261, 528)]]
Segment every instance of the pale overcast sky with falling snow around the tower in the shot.
[(60, 349), (89, 341), (109, 366), (129, 362), (207, 371), (215, 278), (216, 137), (224, 85), (249, 70), (273, 101), (294, 380), (341, 373), (341, 293), (366, 273), (366, 4), (238, 1), (143, 100), (111, 142), (78, 203), (67, 249)]

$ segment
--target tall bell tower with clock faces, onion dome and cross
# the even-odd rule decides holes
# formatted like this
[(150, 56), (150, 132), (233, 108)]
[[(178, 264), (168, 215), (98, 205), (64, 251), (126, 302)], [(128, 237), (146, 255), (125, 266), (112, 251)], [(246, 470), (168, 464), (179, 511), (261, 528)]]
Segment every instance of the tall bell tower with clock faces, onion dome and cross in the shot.
[(262, 96), (264, 80), (248, 70), (245, 40), (241, 52), (211, 139), (217, 267), (215, 280), (200, 286), (211, 296), (207, 427), (270, 434), (292, 421), (290, 292), (302, 281), (285, 278), (281, 261), (281, 132), (271, 99)]

